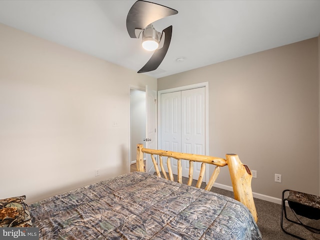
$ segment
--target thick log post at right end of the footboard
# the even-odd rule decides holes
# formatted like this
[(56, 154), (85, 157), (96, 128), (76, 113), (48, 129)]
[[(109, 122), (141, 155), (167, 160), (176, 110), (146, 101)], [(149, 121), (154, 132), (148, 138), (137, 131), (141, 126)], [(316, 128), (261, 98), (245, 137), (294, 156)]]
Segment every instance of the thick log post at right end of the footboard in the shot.
[(226, 154), (225, 156), (230, 172), (234, 199), (242, 202), (247, 208), (249, 208), (255, 222), (257, 222), (258, 216), (251, 189), (251, 170), (247, 165), (242, 164), (238, 155)]

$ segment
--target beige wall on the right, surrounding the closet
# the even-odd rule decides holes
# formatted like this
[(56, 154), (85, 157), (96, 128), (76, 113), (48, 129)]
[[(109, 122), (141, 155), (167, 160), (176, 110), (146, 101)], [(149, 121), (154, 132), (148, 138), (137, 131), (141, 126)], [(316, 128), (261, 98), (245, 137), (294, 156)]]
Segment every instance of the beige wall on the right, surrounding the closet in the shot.
[[(158, 90), (208, 81), (210, 154), (237, 153), (257, 170), (254, 192), (318, 194), (317, 44), (315, 37), (159, 78)], [(231, 185), (227, 169), (219, 177)]]

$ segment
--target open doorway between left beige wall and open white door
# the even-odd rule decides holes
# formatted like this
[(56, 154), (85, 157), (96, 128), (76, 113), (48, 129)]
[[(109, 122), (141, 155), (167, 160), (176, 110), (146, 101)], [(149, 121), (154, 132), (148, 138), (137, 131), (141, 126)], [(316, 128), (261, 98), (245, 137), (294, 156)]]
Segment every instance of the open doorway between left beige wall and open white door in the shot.
[(145, 90), (130, 88), (130, 171), (136, 171), (136, 144), (145, 138)]

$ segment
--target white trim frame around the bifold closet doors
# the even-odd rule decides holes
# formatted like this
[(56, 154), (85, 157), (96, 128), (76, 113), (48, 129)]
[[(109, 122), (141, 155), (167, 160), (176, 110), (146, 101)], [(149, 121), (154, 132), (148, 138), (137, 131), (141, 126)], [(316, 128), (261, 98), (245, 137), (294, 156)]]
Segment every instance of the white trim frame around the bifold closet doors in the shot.
[[(174, 92), (174, 91), (183, 91), (183, 90), (188, 90), (188, 89), (193, 89), (193, 88), (198, 88), (198, 87), (204, 87), (205, 88), (205, 155), (210, 155), (209, 153), (209, 94), (208, 94), (208, 82), (200, 82), (200, 83), (195, 83), (195, 84), (190, 84), (190, 85), (185, 85), (185, 86), (179, 86), (179, 87), (174, 87), (174, 88), (169, 88), (169, 89), (164, 89), (164, 90), (159, 90), (157, 92), (157, 104), (158, 104), (158, 149), (161, 148), (161, 94), (163, 93), (169, 93), (169, 92)], [(166, 149), (162, 149), (166, 150)], [(208, 167), (208, 166), (207, 166)], [(205, 171), (205, 177), (204, 181), (207, 181), (209, 179), (209, 171)]]

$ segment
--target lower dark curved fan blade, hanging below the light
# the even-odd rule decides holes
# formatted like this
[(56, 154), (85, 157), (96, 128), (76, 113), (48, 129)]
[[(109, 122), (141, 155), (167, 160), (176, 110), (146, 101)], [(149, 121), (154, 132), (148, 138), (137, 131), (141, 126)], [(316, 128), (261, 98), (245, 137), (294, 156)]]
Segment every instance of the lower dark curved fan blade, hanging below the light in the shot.
[(162, 34), (165, 34), (163, 47), (160, 49), (156, 49), (150, 59), (145, 63), (145, 65), (138, 71), (138, 73), (141, 72), (147, 72), (147, 71), (153, 71), (155, 70), (160, 63), (162, 62), (171, 41), (171, 35), (172, 35), (172, 26), (168, 26), (162, 31)]

